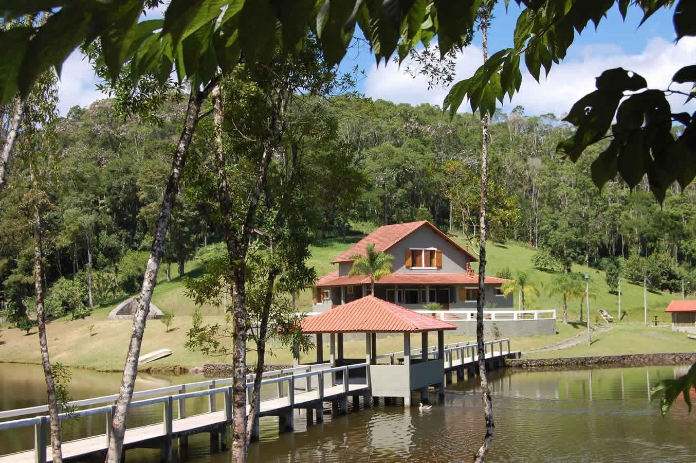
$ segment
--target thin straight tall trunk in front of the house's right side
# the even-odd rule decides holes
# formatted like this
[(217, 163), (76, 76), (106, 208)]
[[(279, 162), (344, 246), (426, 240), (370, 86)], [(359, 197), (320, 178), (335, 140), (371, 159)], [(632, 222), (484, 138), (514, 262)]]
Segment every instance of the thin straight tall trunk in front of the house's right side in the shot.
[[(488, 21), (490, 11), (486, 6), (481, 8), (481, 32), (483, 40), (483, 60), (488, 59)], [(486, 304), (486, 201), (488, 189), (488, 123), (489, 114), (483, 116), (481, 123), (481, 221), (479, 226), (479, 290), (476, 301), (476, 344), (478, 353), (478, 365), (481, 375), (481, 398), (483, 400), (484, 413), (486, 415), (486, 435), (483, 444), (476, 452), (476, 462), (483, 462), (493, 442), (493, 430), (496, 424), (493, 421), (493, 401), (491, 391), (488, 389), (488, 375), (486, 372), (486, 353), (484, 352), (483, 337), (483, 308)]]

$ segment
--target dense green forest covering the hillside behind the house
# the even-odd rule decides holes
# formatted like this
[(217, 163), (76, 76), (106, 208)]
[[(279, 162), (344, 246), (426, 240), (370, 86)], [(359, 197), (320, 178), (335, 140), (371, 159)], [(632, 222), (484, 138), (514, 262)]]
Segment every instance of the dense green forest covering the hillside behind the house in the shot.
[[(442, 230), (461, 231), (477, 251), (477, 116), (450, 118), (439, 107), (352, 93), (314, 104), (322, 120), (302, 128), (316, 132), (306, 141), (301, 193), (311, 242), (427, 219)], [(109, 99), (58, 118), (58, 162), (44, 215), (49, 316), (83, 317), (95, 304), (139, 291), (185, 112), (185, 102), (172, 95), (150, 120), (125, 118)], [(166, 238), (167, 278), (183, 274), (184, 262), (198, 249), (223, 238), (216, 206), (205, 193), (213, 167), (205, 135), (211, 129), (205, 119), (202, 124)], [(573, 130), (553, 114), (526, 116), (521, 107), (496, 112), (489, 146), (490, 237), (536, 246), (539, 268), (575, 262), (608, 270), (614, 280), (620, 274), (642, 283), (645, 277), (651, 288), (679, 292), (684, 283), (689, 290), (696, 283), (695, 188), (681, 191), (675, 184), (663, 205), (645, 180), (631, 191), (617, 177), (600, 191), (591, 178), (594, 156), (573, 163), (556, 152)], [(0, 301), (3, 317), (17, 326), (29, 323), (33, 311), (24, 198), (29, 171), (29, 164), (17, 164), (0, 200)]]

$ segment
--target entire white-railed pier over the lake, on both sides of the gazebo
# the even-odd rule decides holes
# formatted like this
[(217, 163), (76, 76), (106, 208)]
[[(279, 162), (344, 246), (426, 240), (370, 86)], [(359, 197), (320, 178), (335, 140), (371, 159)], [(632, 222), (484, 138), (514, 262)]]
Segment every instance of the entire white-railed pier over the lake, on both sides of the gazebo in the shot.
[[(368, 337), (369, 339), (370, 337)], [(388, 359), (386, 365), (398, 366), (401, 362), (413, 361), (418, 364), (423, 361), (425, 351), (425, 363), (434, 365), (438, 363), (444, 368), (440, 379), (430, 382), (429, 386), (418, 387), (411, 392), (419, 392), (422, 402), (427, 402), (429, 387), (436, 388), (443, 399), (444, 384), (452, 382), (452, 373), (457, 374), (457, 380), (478, 374), (477, 346), (474, 342), (453, 343), (448, 345), (427, 346), (424, 348), (409, 350), (408, 354), (392, 352), (390, 354), (375, 355), (374, 363), (354, 363), (346, 366), (333, 366), (335, 360), (326, 363), (303, 365), (285, 370), (264, 372), (262, 386), (274, 385), (273, 397), (260, 401), (259, 412), (253, 426), (252, 439), (258, 439), (258, 418), (262, 416), (278, 416), (278, 432), (290, 432), (294, 429), (294, 410), (305, 409), (306, 419), (309, 424), (322, 423), (324, 420), (324, 404), (331, 402), (331, 410), (334, 416), (345, 414), (348, 411), (348, 399), (353, 398), (354, 409), (359, 404), (362, 396), (363, 407), (379, 404), (379, 397), (373, 397), (373, 372), (379, 371), (384, 365), (382, 361)], [(493, 340), (484, 344), (486, 350), (486, 368), (492, 370), (503, 368), (505, 358), (518, 358), (519, 352), (511, 352), (509, 339)], [(373, 353), (368, 349), (370, 354)], [(443, 352), (443, 357), (438, 357)], [(370, 355), (368, 354), (368, 355)], [(429, 361), (430, 358), (438, 362)], [(368, 356), (367, 358), (370, 358)], [(379, 363), (377, 363), (379, 362)], [(248, 375), (247, 391), (251, 397), (254, 375)], [(124, 450), (130, 448), (159, 448), (161, 461), (171, 462), (173, 440), (179, 439), (179, 445), (187, 445), (187, 437), (192, 434), (209, 433), (211, 452), (224, 448), (227, 441), (229, 426), (232, 424), (232, 379), (212, 379), (209, 381), (190, 384), (178, 384), (148, 391), (134, 393), (134, 402), (131, 409), (147, 405), (161, 404), (162, 418), (157, 423), (141, 427), (132, 427), (126, 430)], [(395, 384), (395, 388), (399, 385)], [(268, 391), (267, 391), (268, 392)], [(219, 407), (216, 396), (223, 395), (224, 403)], [(399, 393), (382, 394), (384, 402), (394, 402)], [(202, 414), (189, 416), (187, 414), (186, 401), (192, 398), (207, 397), (208, 411)], [(109, 428), (113, 416), (113, 403), (117, 395), (106, 395), (85, 400), (76, 400), (68, 405), (75, 407), (93, 407), (74, 411), (72, 414), (61, 414), (61, 419), (74, 416), (104, 416), (104, 434), (63, 442), (63, 460), (75, 461), (90, 458), (104, 458), (109, 445)], [(107, 405), (103, 405), (107, 404)], [(404, 396), (404, 405), (410, 406), (408, 395)], [(0, 420), (45, 414), (47, 406), (29, 407), (0, 411)], [(248, 409), (247, 409), (248, 412)], [(49, 418), (46, 415), (33, 416), (31, 418), (19, 418), (13, 421), (0, 421), (0, 431), (33, 426), (35, 439), (34, 448), (19, 453), (1, 455), (0, 463), (44, 463), (50, 461), (51, 448), (49, 444)]]

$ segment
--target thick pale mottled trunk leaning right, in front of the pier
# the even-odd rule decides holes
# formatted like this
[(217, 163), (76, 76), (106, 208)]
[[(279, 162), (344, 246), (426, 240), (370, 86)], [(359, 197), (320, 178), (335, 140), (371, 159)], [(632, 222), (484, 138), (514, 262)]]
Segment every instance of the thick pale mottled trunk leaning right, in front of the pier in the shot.
[(216, 81), (217, 79), (214, 79), (214, 81), (210, 82), (203, 91), (192, 89), (191, 95), (189, 96), (184, 130), (182, 131), (179, 143), (174, 152), (172, 168), (169, 173), (166, 190), (164, 191), (164, 199), (162, 200), (159, 211), (159, 218), (155, 226), (155, 237), (152, 240), (150, 258), (148, 259), (148, 266), (145, 268), (143, 288), (140, 293), (138, 308), (136, 309), (133, 320), (128, 354), (123, 369), (118, 401), (116, 402), (116, 412), (113, 414), (113, 421), (111, 422), (111, 439), (109, 439), (109, 451), (106, 454), (106, 462), (108, 463), (121, 462), (123, 438), (125, 437), (126, 420), (128, 417), (128, 406), (133, 397), (133, 388), (138, 374), (138, 357), (140, 356), (140, 347), (143, 343), (143, 334), (145, 333), (145, 320), (147, 320), (148, 312), (150, 311), (152, 291), (155, 290), (155, 284), (157, 284), (159, 262), (164, 255), (164, 240), (169, 226), (169, 219), (171, 217), (172, 208), (174, 207), (175, 198), (179, 191), (179, 181), (186, 164), (189, 145), (193, 139), (193, 132), (196, 131), (196, 125), (198, 125), (200, 107), (212, 86), (216, 84)]

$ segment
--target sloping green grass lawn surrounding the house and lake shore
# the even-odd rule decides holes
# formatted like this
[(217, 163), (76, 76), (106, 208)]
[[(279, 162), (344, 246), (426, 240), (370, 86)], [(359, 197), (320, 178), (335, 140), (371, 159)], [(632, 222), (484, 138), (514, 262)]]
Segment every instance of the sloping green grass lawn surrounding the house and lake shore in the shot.
[[(330, 263), (331, 259), (345, 251), (351, 244), (359, 238), (349, 237), (346, 242), (340, 239), (322, 240), (313, 246), (312, 257), (308, 265), (315, 267), (317, 276), (327, 274), (335, 266)], [(454, 240), (466, 246), (464, 240), (457, 235)], [(548, 288), (552, 273), (542, 272), (532, 268), (532, 257), (535, 249), (525, 244), (508, 242), (506, 244), (492, 243), (488, 246), (488, 274), (495, 274), (503, 267), (509, 267), (513, 275), (518, 271), (528, 271), (530, 280), (537, 286), (541, 293), (538, 298), (528, 301), (528, 308), (531, 309), (555, 309), (557, 316), (562, 315), (562, 301), (559, 296), (548, 294)], [(192, 260), (187, 263), (187, 276), (200, 274), (200, 260)], [(474, 265), (476, 267), (476, 265)], [(589, 270), (589, 272), (587, 272)], [(574, 266), (574, 271), (587, 272), (591, 276), (590, 285), (596, 292), (596, 299), (590, 299), (592, 320), (596, 320), (598, 308), (604, 308), (616, 317), (617, 297), (610, 294), (604, 281), (603, 272), (586, 267)], [(171, 311), (175, 314), (171, 331), (166, 333), (164, 324), (158, 320), (150, 320), (148, 329), (143, 338), (142, 352), (167, 347), (173, 351), (172, 356), (162, 361), (154, 362), (152, 366), (161, 365), (180, 365), (184, 367), (200, 366), (211, 361), (225, 361), (224, 359), (210, 359), (203, 355), (189, 352), (184, 347), (187, 340), (187, 331), (191, 326), (191, 313), (193, 312), (193, 302), (186, 297), (184, 288), (184, 278), (177, 277), (171, 282), (167, 282), (164, 277), (164, 269), (160, 272), (159, 281), (155, 288), (152, 300), (163, 310)], [(667, 323), (669, 318), (664, 313), (668, 302), (678, 299), (681, 295), (670, 295), (661, 292), (648, 293), (649, 320), (653, 320), (652, 315), (658, 315), (661, 323)], [(515, 295), (516, 297), (516, 295)], [(626, 354), (634, 352), (683, 352), (694, 350), (696, 341), (686, 341), (686, 336), (671, 333), (668, 329), (644, 329), (640, 322), (643, 320), (643, 292), (637, 285), (624, 283), (622, 285), (622, 310), (628, 315), (624, 321), (614, 324), (615, 329), (604, 333), (599, 340), (592, 346), (587, 347), (578, 345), (563, 351), (553, 351), (537, 353), (536, 356), (574, 356), (592, 354)], [(310, 311), (312, 304), (311, 290), (301, 292), (297, 301), (297, 307), (301, 311)], [(569, 320), (578, 320), (579, 299), (569, 300)], [(111, 321), (106, 320), (106, 315), (114, 305), (101, 307), (87, 317), (85, 320), (62, 319), (53, 320), (48, 324), (49, 348), (51, 350), (52, 361), (60, 361), (65, 365), (79, 366), (85, 368), (95, 368), (98, 370), (121, 370), (125, 361), (127, 342), (130, 336), (132, 323), (127, 320)], [(222, 323), (224, 321), (221, 308), (213, 306), (203, 306), (201, 308), (205, 320), (209, 323)], [(627, 323), (630, 322), (630, 323)], [(94, 324), (94, 335), (90, 336), (87, 329), (89, 324)], [(6, 327), (3, 327), (6, 328)], [(558, 343), (564, 339), (575, 336), (582, 332), (583, 324), (571, 323), (564, 325), (557, 322), (557, 334), (550, 336), (531, 336), (528, 338), (514, 338), (512, 348), (514, 350), (530, 350), (537, 347), (544, 347)], [(40, 363), (38, 350), (38, 339), (36, 329), (32, 334), (25, 336), (23, 331), (18, 329), (3, 329), (0, 338), (0, 360), (19, 361), (29, 363)], [(328, 337), (325, 336), (326, 346), (324, 347), (325, 356), (328, 356)], [(445, 342), (457, 340), (468, 340), (464, 336), (445, 335)], [(432, 336), (430, 344), (435, 344), (436, 340)], [(693, 343), (693, 347), (690, 343)], [(420, 337), (413, 337), (412, 346), (420, 345)], [(275, 356), (267, 359), (267, 363), (287, 364), (291, 363), (290, 352), (280, 346), (271, 346)], [(378, 341), (379, 353), (395, 352), (403, 349), (402, 336), (390, 336)], [(361, 357), (365, 355), (364, 340), (347, 340), (345, 343), (345, 355)], [(303, 359), (315, 358), (314, 353), (308, 354)], [(230, 359), (227, 359), (229, 361)], [(255, 354), (248, 354), (249, 363), (255, 362)]]

